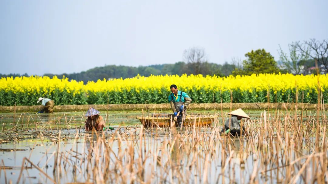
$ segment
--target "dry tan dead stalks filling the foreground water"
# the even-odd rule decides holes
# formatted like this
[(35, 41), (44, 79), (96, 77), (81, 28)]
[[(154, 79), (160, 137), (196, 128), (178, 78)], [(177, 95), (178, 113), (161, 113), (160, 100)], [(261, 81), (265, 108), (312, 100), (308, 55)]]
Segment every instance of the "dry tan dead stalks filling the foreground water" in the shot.
[[(88, 133), (76, 126), (69, 151), (57, 129), (55, 151), (44, 165), (24, 158), (16, 182), (28, 167), (49, 183), (327, 183), (325, 111), (295, 109), (263, 110), (242, 122), (241, 137), (220, 134), (221, 113), (211, 126), (182, 130), (136, 125)], [(51, 176), (44, 172), (50, 163)]]

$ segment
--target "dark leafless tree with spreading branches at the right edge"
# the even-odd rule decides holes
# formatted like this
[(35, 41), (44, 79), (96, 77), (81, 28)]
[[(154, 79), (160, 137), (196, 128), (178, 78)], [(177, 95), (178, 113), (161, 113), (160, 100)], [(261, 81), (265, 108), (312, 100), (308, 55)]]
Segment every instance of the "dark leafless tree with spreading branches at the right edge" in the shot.
[[(296, 44), (299, 51), (316, 59), (319, 64), (323, 65), (325, 72), (328, 73), (328, 40), (320, 42), (313, 38), (310, 41), (304, 41), (304, 44), (300, 42), (296, 42)], [(310, 47), (310, 51), (306, 50), (307, 47)]]

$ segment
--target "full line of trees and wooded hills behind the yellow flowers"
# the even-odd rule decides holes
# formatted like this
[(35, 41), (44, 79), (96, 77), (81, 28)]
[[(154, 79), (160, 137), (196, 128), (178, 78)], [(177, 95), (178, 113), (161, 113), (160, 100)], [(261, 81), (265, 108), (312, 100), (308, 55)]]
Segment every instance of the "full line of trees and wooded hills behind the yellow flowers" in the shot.
[[(84, 81), (97, 81), (98, 79), (131, 78), (136, 75), (251, 75), (260, 73), (291, 73), (295, 75), (328, 73), (328, 39), (318, 41), (310, 39), (304, 42), (288, 44), (289, 52), (284, 52), (279, 45), (279, 59), (276, 61), (270, 52), (265, 49), (252, 50), (245, 54), (246, 59), (241, 61), (232, 58), (224, 64), (210, 63), (206, 59), (203, 48), (192, 47), (183, 52), (183, 61), (174, 64), (158, 64), (149, 66), (116, 66), (107, 65), (95, 67), (87, 71), (72, 74), (60, 74), (58, 77)], [(52, 77), (55, 74), (44, 74)], [(27, 74), (0, 74), (0, 77), (27, 76)]]

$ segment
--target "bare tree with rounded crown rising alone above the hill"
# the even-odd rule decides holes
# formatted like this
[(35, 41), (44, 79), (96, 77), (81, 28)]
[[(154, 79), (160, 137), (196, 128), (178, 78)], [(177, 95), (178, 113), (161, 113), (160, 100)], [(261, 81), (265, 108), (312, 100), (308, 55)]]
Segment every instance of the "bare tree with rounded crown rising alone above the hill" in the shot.
[(202, 73), (202, 66), (207, 62), (203, 48), (192, 47), (183, 51), (183, 59), (190, 65), (191, 73), (197, 75)]

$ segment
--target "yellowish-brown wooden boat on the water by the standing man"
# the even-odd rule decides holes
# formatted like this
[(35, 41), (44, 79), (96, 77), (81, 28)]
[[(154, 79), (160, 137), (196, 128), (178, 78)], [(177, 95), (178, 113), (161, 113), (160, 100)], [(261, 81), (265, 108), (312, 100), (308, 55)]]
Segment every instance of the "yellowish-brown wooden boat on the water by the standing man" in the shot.
[[(171, 126), (172, 122), (177, 125), (173, 121), (173, 114), (154, 113), (151, 116), (138, 116), (137, 119), (144, 127), (166, 127)], [(191, 114), (186, 116), (183, 126), (211, 126), (213, 121), (213, 115)]]

